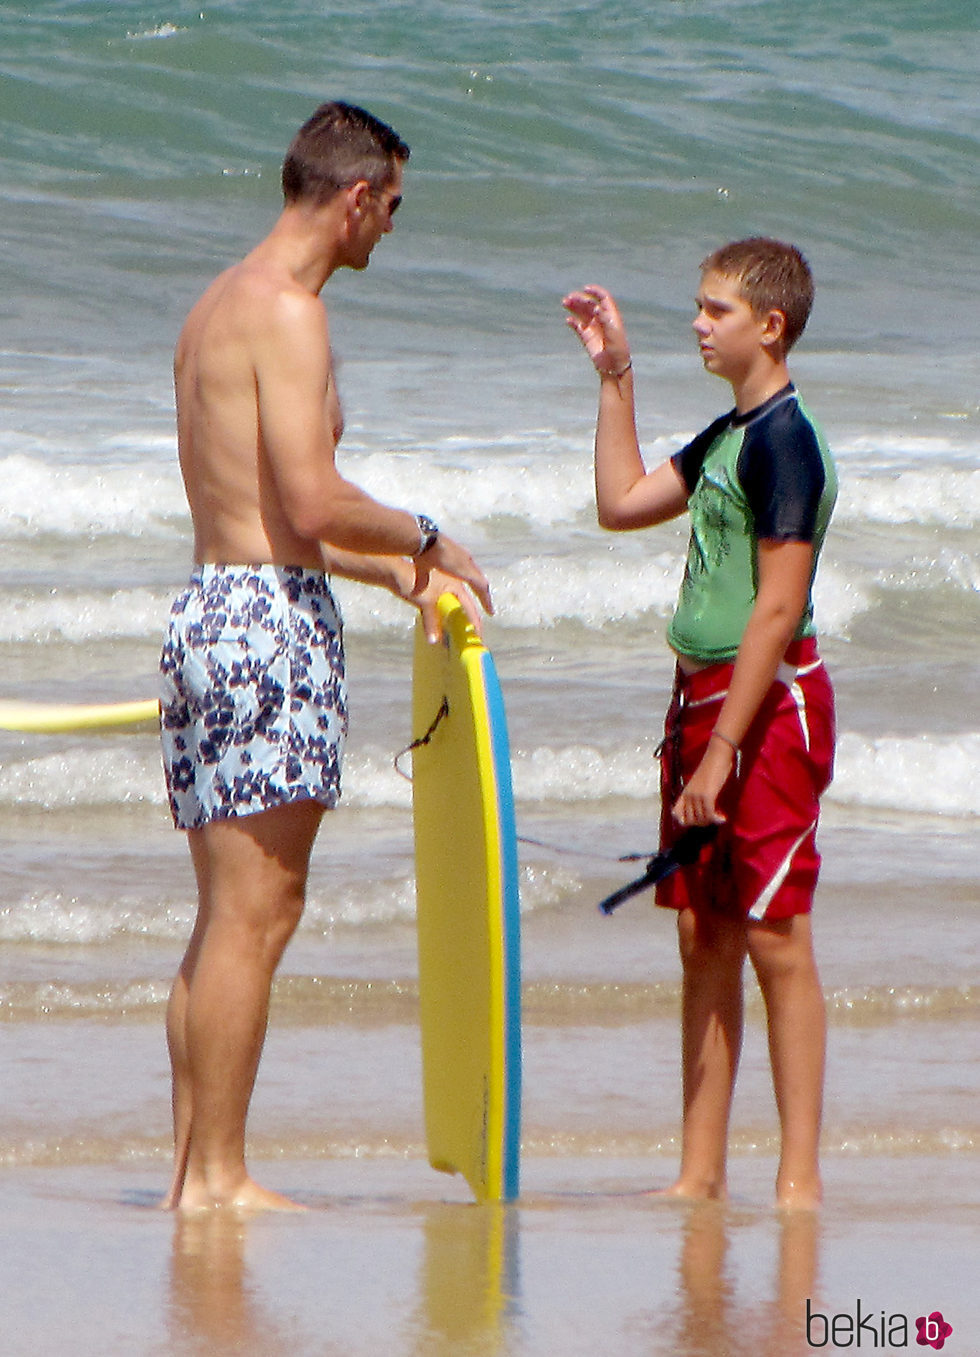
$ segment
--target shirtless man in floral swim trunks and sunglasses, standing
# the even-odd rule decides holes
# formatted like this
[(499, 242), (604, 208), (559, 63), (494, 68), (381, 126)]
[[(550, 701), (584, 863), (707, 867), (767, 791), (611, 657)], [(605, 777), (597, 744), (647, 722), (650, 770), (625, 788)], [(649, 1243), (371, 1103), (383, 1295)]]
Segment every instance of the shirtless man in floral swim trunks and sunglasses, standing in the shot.
[(278, 221), (208, 288), (176, 345), (197, 563), (160, 661), (171, 810), (198, 887), (167, 1011), (175, 1164), (163, 1204), (181, 1210), (293, 1205), (250, 1178), (244, 1132), (273, 976), (339, 795), (346, 692), (328, 575), (415, 604), (432, 639), (445, 589), (474, 622), (476, 600), (491, 611), (466, 548), (334, 461), (342, 422), (319, 293), (334, 270), (365, 269), (392, 229), (407, 159), (362, 109), (318, 109), (286, 153)]

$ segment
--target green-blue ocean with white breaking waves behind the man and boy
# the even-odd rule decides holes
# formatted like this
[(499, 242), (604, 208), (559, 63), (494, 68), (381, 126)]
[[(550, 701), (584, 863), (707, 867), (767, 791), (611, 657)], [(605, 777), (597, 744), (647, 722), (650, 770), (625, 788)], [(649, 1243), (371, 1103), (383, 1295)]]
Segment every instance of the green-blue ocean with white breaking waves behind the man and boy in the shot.
[[(794, 373), (842, 484), (816, 589), (840, 719), (814, 916), (828, 1196), (854, 1208), (856, 1185), (894, 1179), (951, 1209), (976, 1185), (979, 47), (966, 0), (0, 14), (0, 696), (155, 693), (190, 566), (183, 315), (274, 221), (282, 151), (318, 102), (364, 103), (413, 147), (394, 235), (327, 285), (339, 460), (471, 546), (494, 588), (519, 833), (539, 841), (521, 847), (531, 1200), (562, 1174), (668, 1182), (679, 1122), (671, 920), (596, 901), (630, 875), (620, 854), (656, 847), (684, 531), (596, 527), (596, 384), (561, 297), (618, 294), (653, 461), (726, 407), (690, 330), (698, 263), (757, 232), (813, 265)], [(271, 1162), (259, 1177), (288, 1162), (314, 1191), (349, 1166), (356, 1193), (365, 1162), (415, 1182), (425, 1159), (410, 791), (392, 768), (413, 623), (387, 596), (338, 593), (345, 799), (277, 988), (252, 1153)], [(7, 1182), (95, 1166), (163, 1186), (163, 1010), (191, 919), (152, 734), (0, 733)], [(761, 1202), (776, 1122), (753, 995), (749, 1014), (732, 1179)], [(880, 1278), (877, 1303), (904, 1300)], [(684, 1342), (669, 1350), (702, 1350)]]

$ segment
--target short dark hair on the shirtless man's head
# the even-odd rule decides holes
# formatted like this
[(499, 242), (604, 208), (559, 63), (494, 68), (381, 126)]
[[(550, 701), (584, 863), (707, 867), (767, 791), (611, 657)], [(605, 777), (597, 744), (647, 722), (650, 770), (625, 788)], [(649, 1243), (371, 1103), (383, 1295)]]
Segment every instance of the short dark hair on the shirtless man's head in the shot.
[(322, 103), (293, 137), (282, 161), (286, 202), (327, 202), (361, 179), (387, 189), (409, 147), (387, 122), (353, 103)]

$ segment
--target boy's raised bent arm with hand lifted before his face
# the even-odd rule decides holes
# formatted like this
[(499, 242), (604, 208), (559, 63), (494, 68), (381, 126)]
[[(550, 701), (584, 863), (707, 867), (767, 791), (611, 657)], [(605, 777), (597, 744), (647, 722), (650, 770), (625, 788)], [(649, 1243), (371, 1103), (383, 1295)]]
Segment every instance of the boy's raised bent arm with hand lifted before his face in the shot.
[(599, 286), (563, 305), (600, 377), (596, 419), (596, 509), (603, 528), (650, 528), (687, 509), (687, 486), (671, 461), (647, 472), (637, 438), (630, 342), (611, 294)]

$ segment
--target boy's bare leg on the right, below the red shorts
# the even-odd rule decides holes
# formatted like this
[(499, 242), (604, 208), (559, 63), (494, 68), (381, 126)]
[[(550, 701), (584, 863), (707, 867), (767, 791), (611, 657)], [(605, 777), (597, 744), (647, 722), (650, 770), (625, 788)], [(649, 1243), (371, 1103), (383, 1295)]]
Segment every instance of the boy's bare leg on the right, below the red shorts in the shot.
[(820, 1205), (820, 1122), (827, 1011), (809, 915), (749, 925), (749, 957), (766, 1000), (782, 1152), (776, 1204)]

